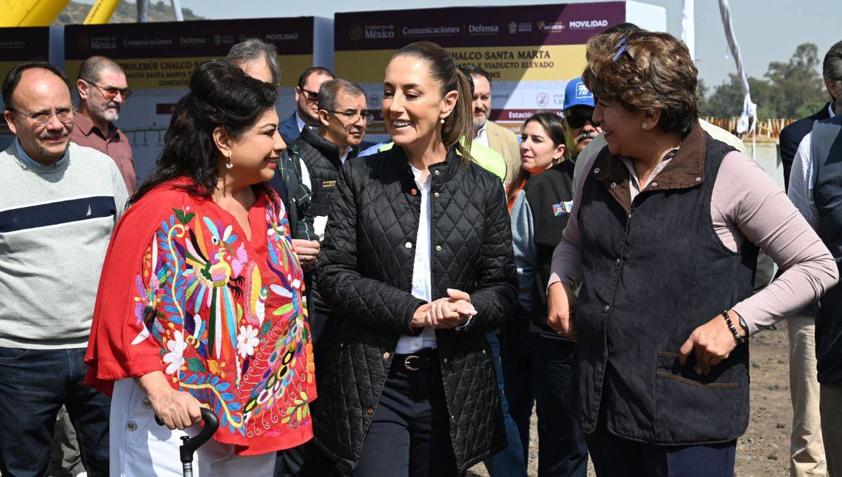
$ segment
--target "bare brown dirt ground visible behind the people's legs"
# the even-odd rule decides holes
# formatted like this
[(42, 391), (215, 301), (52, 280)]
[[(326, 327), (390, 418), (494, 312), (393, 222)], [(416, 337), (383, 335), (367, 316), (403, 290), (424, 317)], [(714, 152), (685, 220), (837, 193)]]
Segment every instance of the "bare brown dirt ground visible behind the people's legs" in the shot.
[[(735, 477), (789, 475), (789, 436), (792, 408), (789, 395), (789, 337), (786, 322), (751, 338), (751, 418), (749, 429), (737, 442)], [(529, 474), (538, 474), (538, 434), (532, 415)], [(594, 475), (589, 466), (589, 476)], [(487, 477), (480, 464), (468, 477)]]

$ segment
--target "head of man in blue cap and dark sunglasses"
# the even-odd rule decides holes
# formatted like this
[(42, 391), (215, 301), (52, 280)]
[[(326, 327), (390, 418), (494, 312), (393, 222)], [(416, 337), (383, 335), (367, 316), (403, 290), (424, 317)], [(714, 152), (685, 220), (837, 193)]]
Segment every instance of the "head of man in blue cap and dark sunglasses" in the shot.
[(582, 78), (570, 80), (564, 88), (564, 137), (574, 162), (579, 152), (602, 132), (600, 124), (592, 119), (594, 108), (594, 95), (584, 86)]

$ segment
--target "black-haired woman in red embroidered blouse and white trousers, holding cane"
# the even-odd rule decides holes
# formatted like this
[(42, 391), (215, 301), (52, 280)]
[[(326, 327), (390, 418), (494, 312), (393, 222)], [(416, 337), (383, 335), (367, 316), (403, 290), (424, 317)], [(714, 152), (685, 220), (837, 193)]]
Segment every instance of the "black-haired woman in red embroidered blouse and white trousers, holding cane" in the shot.
[(312, 437), (304, 280), (265, 185), (285, 149), (274, 103), (236, 66), (199, 66), (117, 225), (86, 356), (86, 383), (113, 393), (112, 475), (180, 475), (200, 405), (220, 421), (201, 475), (272, 475), (274, 451)]

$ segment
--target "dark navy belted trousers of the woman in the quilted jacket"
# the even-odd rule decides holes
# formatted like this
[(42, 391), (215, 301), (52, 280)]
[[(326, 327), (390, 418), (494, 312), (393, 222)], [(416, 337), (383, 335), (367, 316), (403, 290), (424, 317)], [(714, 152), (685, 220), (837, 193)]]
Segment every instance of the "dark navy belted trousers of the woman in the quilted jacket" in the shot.
[(354, 477), (459, 474), (438, 358), (432, 361), (429, 368), (409, 371), (395, 356)]

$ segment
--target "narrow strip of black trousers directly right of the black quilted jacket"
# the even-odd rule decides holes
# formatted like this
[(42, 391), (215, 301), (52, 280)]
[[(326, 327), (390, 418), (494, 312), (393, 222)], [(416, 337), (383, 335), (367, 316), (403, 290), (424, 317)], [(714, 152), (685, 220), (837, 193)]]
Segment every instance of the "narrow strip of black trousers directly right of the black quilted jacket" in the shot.
[(500, 329), (500, 361), (503, 366), (509, 415), (520, 433), (524, 462), (529, 463), (530, 421), (535, 406), (538, 333), (530, 332), (529, 312), (517, 307), (514, 316)]

